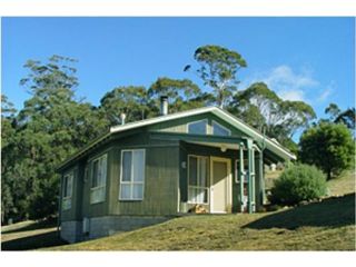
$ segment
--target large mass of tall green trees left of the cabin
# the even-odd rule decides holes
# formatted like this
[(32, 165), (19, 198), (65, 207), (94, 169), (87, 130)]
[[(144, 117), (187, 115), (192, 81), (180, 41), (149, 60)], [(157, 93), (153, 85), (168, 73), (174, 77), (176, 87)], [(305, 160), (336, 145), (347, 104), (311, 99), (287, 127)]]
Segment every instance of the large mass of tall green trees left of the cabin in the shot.
[(29, 60), (24, 65), (29, 73), (21, 85), (31, 98), (18, 115), (1, 120), (6, 129), (1, 136), (2, 221), (53, 216), (59, 192), (56, 167), (108, 125), (91, 105), (76, 101), (75, 62), (53, 56), (46, 63)]

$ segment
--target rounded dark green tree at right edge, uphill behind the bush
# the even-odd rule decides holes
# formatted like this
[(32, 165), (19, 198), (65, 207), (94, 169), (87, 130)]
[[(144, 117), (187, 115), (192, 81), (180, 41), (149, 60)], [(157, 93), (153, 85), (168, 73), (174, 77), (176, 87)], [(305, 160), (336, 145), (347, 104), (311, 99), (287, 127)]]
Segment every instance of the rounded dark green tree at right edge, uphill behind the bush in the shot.
[(320, 122), (300, 137), (301, 162), (315, 165), (328, 179), (350, 167), (355, 157), (355, 142), (343, 123)]

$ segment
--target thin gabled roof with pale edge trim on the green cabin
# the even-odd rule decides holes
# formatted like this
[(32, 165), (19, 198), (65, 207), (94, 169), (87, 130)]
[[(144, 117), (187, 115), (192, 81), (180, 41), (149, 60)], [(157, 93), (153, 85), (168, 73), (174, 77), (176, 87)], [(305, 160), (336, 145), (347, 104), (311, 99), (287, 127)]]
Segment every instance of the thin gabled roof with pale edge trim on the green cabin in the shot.
[(156, 118), (151, 118), (151, 119), (129, 122), (126, 125), (113, 126), (110, 128), (110, 130), (107, 134), (102, 135), (98, 139), (88, 144), (86, 147), (80, 149), (77, 154), (75, 154), (69, 159), (67, 159), (65, 162), (62, 162), (58, 167), (58, 169), (61, 169), (69, 161), (80, 157), (82, 154), (88, 151), (90, 148), (96, 146), (98, 142), (101, 142), (102, 140), (107, 139), (108, 137), (110, 137), (113, 134), (123, 132), (123, 131), (132, 130), (132, 129), (140, 128), (140, 127), (146, 127), (146, 126), (156, 125), (156, 123), (160, 123), (160, 122), (165, 122), (165, 121), (169, 121), (169, 120), (175, 120), (175, 119), (180, 119), (180, 118), (186, 118), (186, 117), (201, 115), (201, 113), (208, 113), (208, 112), (216, 115), (220, 119), (225, 120), (227, 123), (231, 125), (233, 127), (236, 127), (237, 129), (239, 129), (240, 131), (243, 131), (247, 136), (250, 136), (256, 141), (258, 141), (258, 142), (265, 141), (266, 148), (276, 152), (281, 158), (296, 159), (295, 155), (293, 155), (285, 147), (280, 146), (277, 141), (274, 141), (270, 138), (264, 136), (261, 132), (259, 132), (255, 128), (250, 127), (249, 125), (245, 123), (243, 120), (236, 118), (235, 116), (227, 112), (226, 110), (220, 109), (218, 107), (204, 107), (204, 108), (197, 108), (197, 109), (181, 111), (181, 112), (177, 112), (177, 113), (169, 113), (166, 116), (160, 116), (160, 117), (156, 117)]

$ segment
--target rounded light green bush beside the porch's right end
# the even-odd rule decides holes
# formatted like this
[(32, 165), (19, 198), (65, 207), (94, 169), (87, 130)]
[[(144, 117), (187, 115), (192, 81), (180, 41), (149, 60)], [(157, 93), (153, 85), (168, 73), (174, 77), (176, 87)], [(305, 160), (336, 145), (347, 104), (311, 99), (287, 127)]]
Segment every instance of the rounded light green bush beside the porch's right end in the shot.
[(270, 202), (296, 205), (320, 198), (326, 194), (325, 175), (314, 166), (295, 165), (287, 168), (271, 188)]

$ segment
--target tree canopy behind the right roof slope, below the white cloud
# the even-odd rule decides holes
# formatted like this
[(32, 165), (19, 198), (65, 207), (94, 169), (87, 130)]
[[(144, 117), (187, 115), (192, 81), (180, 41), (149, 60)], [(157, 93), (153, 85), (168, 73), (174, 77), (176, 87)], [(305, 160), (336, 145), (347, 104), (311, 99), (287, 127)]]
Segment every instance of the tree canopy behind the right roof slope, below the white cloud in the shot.
[[(266, 83), (256, 82), (234, 96), (229, 111), (266, 131), (280, 144), (291, 145), (294, 134), (316, 118), (313, 108), (303, 101), (284, 101)], [(295, 146), (293, 146), (295, 149)]]

